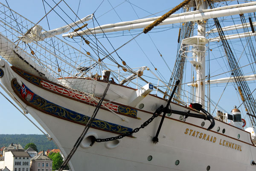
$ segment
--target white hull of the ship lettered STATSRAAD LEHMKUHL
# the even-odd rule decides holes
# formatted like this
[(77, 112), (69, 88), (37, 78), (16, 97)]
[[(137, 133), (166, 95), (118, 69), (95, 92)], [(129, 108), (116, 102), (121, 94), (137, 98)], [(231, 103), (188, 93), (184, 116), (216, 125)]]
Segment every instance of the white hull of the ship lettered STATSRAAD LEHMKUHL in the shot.
[[(21, 94), (17, 91), (18, 89), (15, 90), (13, 79), (17, 79), (18, 86), (22, 86), (22, 83), (26, 85), (34, 95), (37, 94), (52, 104), (85, 116), (92, 116), (95, 109), (94, 105), (82, 100), (79, 102), (73, 97), (35, 85), (33, 81), (17, 74), (17, 69), (10, 68), (5, 61), (0, 60), (0, 64), (0, 69), (3, 71), (0, 80), (6, 90), (12, 94), (16, 103), (24, 111), (28, 111), (47, 131), (66, 157), (84, 129), (85, 122), (81, 123), (79, 120), (64, 118), (61, 113), (58, 116), (49, 114), (44, 111), (45, 108), (35, 107), (32, 101), (21, 97)], [(37, 77), (33, 76), (33, 78)], [(99, 82), (99, 84), (96, 85), (96, 94), (103, 93), (105, 89), (99, 88), (101, 89), (99, 90), (97, 87), (107, 85), (104, 82)], [(120, 97), (115, 102), (110, 103), (126, 106), (128, 100), (125, 95), (128, 96), (133, 91), (135, 90), (125, 86), (111, 84), (106, 97), (123, 92), (124, 96), (122, 98)], [(140, 103), (144, 104), (144, 108), (138, 108)], [(128, 117), (125, 113), (115, 112), (120, 117), (125, 117), (128, 122), (122, 121), (116, 114), (103, 108), (99, 109), (96, 119), (101, 120), (102, 123), (107, 122), (120, 125), (122, 128), (134, 129), (140, 127), (160, 105), (166, 105), (167, 102), (159, 97), (148, 95), (140, 103), (133, 108), (137, 111), (137, 118)], [(174, 103), (171, 104), (171, 107), (172, 110), (191, 110)], [(170, 116), (166, 115), (158, 136), (159, 142), (154, 144), (152, 138), (157, 132), (160, 120), (161, 115), (145, 128), (134, 133), (133, 136), (136, 138), (124, 137), (113, 142), (95, 142), (90, 147), (88, 136), (108, 138), (118, 135), (118, 132), (114, 130), (105, 129), (106, 125), (100, 125), (98, 128), (91, 127), (70, 160), (70, 169), (72, 171), (203, 171), (207, 170), (207, 167), (211, 171), (254, 171), (256, 169), (255, 165), (251, 165), (251, 162), (256, 159), (256, 147), (251, 141), (250, 133), (219, 120), (215, 120), (215, 127), (207, 131), (210, 125), (207, 120), (188, 117), (186, 121), (183, 121), (183, 119), (180, 120), (180, 115), (172, 114)], [(205, 123), (204, 126), (201, 126), (202, 122)], [(219, 131), (217, 131), (218, 127), (220, 128)]]

